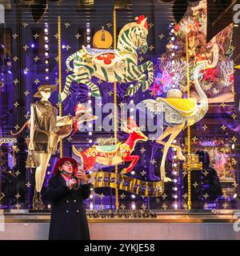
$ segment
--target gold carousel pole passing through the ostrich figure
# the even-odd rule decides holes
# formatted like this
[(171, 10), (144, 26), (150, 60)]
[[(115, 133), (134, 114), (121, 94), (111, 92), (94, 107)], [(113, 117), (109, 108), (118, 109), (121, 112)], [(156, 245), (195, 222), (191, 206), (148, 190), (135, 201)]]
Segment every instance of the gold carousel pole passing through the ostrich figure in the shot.
[[(189, 70), (189, 53), (188, 53), (188, 34), (186, 34), (186, 81), (187, 81), (187, 98), (190, 98), (190, 70)], [(187, 126), (187, 154), (191, 154), (191, 130)], [(187, 160), (188, 161), (188, 160)], [(191, 169), (190, 162), (187, 162), (187, 205), (191, 210)]]

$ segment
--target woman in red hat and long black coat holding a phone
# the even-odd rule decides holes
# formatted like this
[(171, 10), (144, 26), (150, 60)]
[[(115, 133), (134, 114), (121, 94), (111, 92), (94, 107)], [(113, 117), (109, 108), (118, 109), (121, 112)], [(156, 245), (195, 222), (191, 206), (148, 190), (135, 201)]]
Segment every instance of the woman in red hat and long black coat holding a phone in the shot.
[[(90, 240), (83, 199), (90, 196), (86, 174), (73, 158), (60, 158), (46, 190), (51, 202), (50, 240)], [(74, 176), (75, 174), (75, 176)]]

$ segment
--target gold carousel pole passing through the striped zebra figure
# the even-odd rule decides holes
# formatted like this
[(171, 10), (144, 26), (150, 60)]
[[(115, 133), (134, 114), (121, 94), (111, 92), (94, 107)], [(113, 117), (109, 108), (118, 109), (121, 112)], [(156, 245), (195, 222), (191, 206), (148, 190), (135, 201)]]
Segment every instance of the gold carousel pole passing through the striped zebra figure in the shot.
[[(114, 8), (114, 50), (117, 49), (117, 19), (116, 19), (116, 8)], [(118, 143), (118, 117), (117, 117), (117, 82), (114, 82), (114, 140), (115, 144)], [(115, 174), (118, 175), (118, 165), (115, 165)], [(118, 210), (118, 188), (115, 188), (115, 206)]]

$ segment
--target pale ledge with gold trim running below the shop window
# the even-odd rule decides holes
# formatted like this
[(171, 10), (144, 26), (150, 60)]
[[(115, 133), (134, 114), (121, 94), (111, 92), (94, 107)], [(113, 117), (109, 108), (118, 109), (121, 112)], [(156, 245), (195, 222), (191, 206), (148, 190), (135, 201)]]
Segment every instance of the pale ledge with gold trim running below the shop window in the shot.
[[(237, 214), (240, 216), (240, 211), (208, 214), (164, 211), (157, 218), (87, 219), (91, 240), (240, 240), (240, 231), (234, 230)], [(50, 214), (26, 214), (18, 210), (1, 214), (0, 211), (0, 240), (45, 240), (49, 223)]]

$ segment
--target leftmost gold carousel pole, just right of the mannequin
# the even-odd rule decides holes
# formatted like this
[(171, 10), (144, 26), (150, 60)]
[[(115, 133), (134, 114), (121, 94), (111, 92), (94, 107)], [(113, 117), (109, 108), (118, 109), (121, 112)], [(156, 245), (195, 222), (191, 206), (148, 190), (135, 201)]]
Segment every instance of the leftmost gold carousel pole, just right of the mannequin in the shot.
[[(59, 94), (62, 93), (62, 47), (61, 47), (61, 17), (58, 16), (58, 90)], [(62, 117), (62, 102), (58, 103), (59, 116)], [(62, 138), (60, 138), (60, 158), (63, 155)]]

